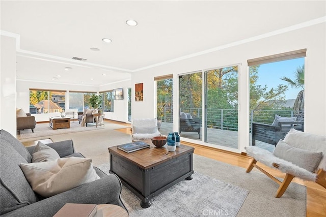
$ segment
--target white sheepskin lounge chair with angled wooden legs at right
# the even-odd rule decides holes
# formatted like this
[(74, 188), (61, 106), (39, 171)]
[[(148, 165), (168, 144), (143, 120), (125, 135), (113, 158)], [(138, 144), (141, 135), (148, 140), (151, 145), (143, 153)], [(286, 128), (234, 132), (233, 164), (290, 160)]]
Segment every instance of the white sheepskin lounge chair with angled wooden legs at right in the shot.
[[(282, 197), (294, 177), (314, 181), (326, 188), (326, 136), (291, 129), (273, 153), (256, 146), (246, 147), (246, 150), (253, 157), (246, 172), (256, 167), (280, 184), (277, 198)], [(258, 161), (286, 173), (283, 182), (257, 166)]]

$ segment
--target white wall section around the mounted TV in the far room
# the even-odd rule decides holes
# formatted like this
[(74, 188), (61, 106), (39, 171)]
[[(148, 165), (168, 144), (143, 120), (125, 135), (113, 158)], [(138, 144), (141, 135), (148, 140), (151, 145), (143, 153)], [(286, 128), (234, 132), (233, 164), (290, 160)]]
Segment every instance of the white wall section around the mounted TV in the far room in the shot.
[(128, 121), (128, 88), (131, 87), (131, 80), (107, 84), (99, 87), (100, 91), (123, 88), (123, 100), (114, 101), (113, 112), (104, 112), (105, 118), (122, 122)]

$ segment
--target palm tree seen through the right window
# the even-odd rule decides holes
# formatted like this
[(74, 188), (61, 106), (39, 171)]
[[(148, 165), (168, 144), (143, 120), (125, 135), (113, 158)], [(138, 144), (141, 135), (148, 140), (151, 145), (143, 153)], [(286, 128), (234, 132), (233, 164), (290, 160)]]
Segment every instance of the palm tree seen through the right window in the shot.
[(302, 88), (296, 96), (294, 101), (293, 110), (297, 114), (299, 119), (304, 118), (304, 109), (305, 109), (305, 66), (297, 67), (294, 80), (282, 77), (281, 79), (287, 81), (291, 87)]

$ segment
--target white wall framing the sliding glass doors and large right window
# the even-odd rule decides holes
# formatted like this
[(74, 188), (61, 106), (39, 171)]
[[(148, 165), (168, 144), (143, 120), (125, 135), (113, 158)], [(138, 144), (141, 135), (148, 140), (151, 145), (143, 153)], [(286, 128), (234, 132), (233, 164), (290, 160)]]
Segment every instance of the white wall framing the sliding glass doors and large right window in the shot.
[[(133, 73), (131, 84), (144, 83), (144, 101), (132, 100), (134, 118), (154, 117), (154, 77), (173, 73), (241, 64), (239, 71), (239, 143), (249, 145), (249, 74), (247, 59), (307, 48), (305, 65), (305, 131), (326, 134), (326, 43), (325, 23), (292, 30), (246, 44), (221, 49), (171, 64)], [(173, 52), (173, 51), (171, 51)], [(132, 92), (134, 96), (134, 92)], [(175, 90), (174, 96), (178, 96)], [(178, 114), (177, 106), (174, 113)], [(174, 129), (176, 130), (176, 129)]]

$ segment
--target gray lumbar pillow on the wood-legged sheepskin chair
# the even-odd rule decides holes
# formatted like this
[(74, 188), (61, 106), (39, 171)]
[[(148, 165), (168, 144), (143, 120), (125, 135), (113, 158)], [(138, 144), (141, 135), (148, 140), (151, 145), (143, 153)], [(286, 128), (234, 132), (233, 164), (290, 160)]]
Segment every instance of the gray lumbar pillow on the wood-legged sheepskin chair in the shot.
[(273, 154), (310, 172), (315, 171), (322, 158), (322, 152), (292, 147), (282, 139), (277, 143)]

